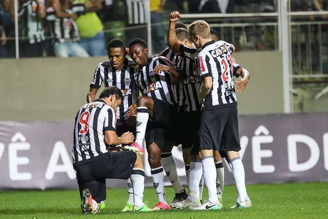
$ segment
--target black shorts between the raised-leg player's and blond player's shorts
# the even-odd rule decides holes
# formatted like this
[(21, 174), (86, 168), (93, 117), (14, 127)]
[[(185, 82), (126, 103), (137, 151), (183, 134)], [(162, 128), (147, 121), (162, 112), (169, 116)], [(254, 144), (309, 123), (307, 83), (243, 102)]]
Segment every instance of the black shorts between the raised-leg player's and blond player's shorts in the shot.
[(199, 123), (201, 111), (185, 112), (182, 115), (182, 149), (192, 148), (192, 155), (199, 152)]

